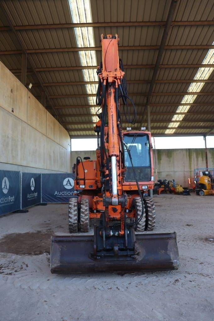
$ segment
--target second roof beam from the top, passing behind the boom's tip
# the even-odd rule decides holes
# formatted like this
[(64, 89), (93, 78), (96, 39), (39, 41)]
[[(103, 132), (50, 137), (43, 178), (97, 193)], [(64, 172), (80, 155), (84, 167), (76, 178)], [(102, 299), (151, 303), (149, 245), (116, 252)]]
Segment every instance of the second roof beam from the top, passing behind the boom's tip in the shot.
[[(165, 46), (164, 49), (213, 49), (214, 45), (179, 45)], [(159, 46), (121, 46), (119, 50), (157, 50)], [(101, 51), (101, 47), (74, 47), (74, 48), (46, 48), (46, 49), (26, 49), (27, 54), (47, 53), (47, 52), (73, 52), (73, 51)], [(20, 54), (21, 50), (0, 51), (0, 55)]]

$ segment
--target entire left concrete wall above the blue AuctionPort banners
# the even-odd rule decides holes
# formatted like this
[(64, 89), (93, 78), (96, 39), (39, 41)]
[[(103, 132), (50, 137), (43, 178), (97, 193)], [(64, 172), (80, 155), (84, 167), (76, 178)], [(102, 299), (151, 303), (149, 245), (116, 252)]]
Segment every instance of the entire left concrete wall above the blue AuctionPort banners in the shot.
[[(0, 62), (0, 168), (70, 171), (70, 137), (22, 83)], [(46, 135), (49, 137), (46, 139)], [(59, 138), (60, 136), (60, 138)], [(69, 140), (68, 140), (69, 137)]]

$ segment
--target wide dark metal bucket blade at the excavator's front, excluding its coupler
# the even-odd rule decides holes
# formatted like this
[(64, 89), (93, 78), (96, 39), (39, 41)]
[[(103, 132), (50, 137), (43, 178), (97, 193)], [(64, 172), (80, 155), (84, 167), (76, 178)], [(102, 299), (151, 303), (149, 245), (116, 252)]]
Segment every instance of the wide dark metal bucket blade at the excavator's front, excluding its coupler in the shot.
[(179, 266), (176, 233), (136, 234), (140, 254), (130, 257), (101, 257), (93, 260), (94, 236), (52, 236), (51, 273), (134, 272), (177, 270)]

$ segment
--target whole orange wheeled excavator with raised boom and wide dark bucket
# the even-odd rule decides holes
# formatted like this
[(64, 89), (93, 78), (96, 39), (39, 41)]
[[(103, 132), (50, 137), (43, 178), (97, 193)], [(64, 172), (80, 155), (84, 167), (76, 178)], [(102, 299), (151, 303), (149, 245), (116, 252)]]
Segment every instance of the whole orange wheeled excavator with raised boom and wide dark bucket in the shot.
[[(135, 124), (136, 109), (128, 97), (125, 73), (118, 56), (118, 36), (101, 36), (102, 63), (94, 127), (96, 160), (77, 157), (73, 172), (78, 197), (69, 200), (69, 232), (52, 236), (52, 273), (90, 273), (176, 270), (179, 266), (176, 233), (148, 233), (155, 228), (151, 133), (122, 131), (120, 99), (127, 123)], [(134, 108), (131, 119), (128, 100)], [(97, 218), (94, 235), (89, 221)]]

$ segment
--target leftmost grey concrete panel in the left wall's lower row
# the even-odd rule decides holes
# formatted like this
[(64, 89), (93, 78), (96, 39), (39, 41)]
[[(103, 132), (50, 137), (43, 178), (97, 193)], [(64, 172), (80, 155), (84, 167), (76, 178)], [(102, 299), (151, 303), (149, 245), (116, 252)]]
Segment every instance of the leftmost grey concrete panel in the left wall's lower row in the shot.
[(27, 124), (0, 107), (0, 162), (27, 165)]

